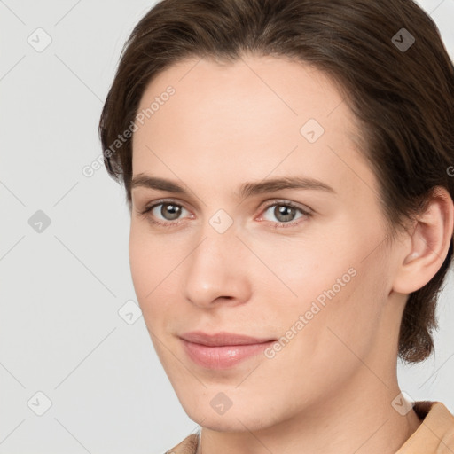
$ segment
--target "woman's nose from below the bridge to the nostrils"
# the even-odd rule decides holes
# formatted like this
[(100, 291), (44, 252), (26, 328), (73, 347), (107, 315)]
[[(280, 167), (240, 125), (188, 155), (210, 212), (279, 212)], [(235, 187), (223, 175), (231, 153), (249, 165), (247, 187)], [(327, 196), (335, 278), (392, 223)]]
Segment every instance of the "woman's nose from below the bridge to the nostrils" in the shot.
[(207, 225), (198, 246), (185, 261), (186, 300), (204, 309), (248, 301), (251, 282), (247, 254), (251, 253), (234, 229), (218, 233)]

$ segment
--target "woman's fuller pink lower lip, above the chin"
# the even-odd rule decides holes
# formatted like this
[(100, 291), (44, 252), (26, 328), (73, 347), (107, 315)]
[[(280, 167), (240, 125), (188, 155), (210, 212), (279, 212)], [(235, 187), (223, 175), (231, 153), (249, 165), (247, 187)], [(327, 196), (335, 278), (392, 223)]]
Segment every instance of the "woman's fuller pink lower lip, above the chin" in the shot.
[(251, 356), (259, 355), (265, 348), (276, 342), (276, 340), (270, 340), (261, 344), (207, 347), (182, 340), (184, 349), (192, 361), (208, 369), (228, 369)]

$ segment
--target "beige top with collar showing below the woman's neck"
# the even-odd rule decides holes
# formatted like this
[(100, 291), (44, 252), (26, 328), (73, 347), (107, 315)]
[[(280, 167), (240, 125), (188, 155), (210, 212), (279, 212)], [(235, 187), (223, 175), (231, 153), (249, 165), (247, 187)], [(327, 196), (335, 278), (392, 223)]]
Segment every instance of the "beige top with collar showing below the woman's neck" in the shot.
[[(453, 454), (454, 416), (441, 402), (419, 401), (414, 411), (422, 423), (395, 454)], [(198, 434), (184, 438), (166, 454), (195, 454)]]

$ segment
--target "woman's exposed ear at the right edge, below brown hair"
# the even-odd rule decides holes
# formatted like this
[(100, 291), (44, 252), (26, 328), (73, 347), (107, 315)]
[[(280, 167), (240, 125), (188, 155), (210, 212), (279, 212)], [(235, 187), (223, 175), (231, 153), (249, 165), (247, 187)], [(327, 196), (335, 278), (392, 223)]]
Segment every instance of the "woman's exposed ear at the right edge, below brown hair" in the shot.
[(419, 290), (442, 267), (450, 248), (453, 219), (450, 193), (436, 186), (426, 211), (418, 216), (414, 230), (403, 243), (405, 247), (393, 286), (395, 292), (411, 294)]

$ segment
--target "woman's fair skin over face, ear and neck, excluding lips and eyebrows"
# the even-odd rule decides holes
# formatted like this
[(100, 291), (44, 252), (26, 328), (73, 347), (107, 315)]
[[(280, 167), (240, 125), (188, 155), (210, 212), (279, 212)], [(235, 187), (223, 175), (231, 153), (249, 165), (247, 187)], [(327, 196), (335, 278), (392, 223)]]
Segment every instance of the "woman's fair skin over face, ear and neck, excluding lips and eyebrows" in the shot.
[[(391, 404), (401, 391), (400, 320), (408, 294), (448, 252), (450, 196), (441, 190), (388, 242), (355, 119), (335, 84), (307, 64), (186, 59), (153, 79), (139, 110), (168, 85), (176, 93), (134, 133), (133, 177), (166, 178), (187, 194), (133, 188), (129, 258), (154, 348), (202, 427), (203, 453), (395, 453), (420, 424)], [(300, 133), (309, 119), (325, 129), (313, 144)], [(335, 192), (239, 198), (241, 184), (280, 176), (317, 178)], [(139, 214), (160, 199), (183, 207), (176, 220), (165, 205)], [(277, 206), (267, 207), (273, 201), (311, 215), (296, 209), (286, 227)], [(219, 209), (233, 221), (223, 233), (209, 223)], [(178, 335), (194, 330), (279, 339), (351, 268), (355, 277), (275, 357), (219, 371), (186, 356)], [(210, 401), (221, 392), (232, 405), (218, 414)]]

